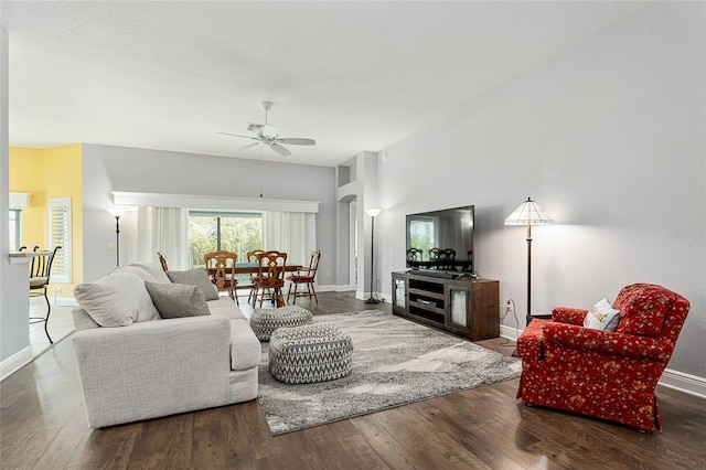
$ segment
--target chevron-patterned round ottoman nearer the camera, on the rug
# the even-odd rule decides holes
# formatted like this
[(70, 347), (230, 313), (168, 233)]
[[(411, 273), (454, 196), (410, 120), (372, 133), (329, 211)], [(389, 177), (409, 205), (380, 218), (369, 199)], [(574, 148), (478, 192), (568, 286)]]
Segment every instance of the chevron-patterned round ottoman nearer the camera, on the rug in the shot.
[(351, 373), (353, 342), (330, 323), (280, 328), (269, 340), (269, 373), (286, 384), (310, 384)]

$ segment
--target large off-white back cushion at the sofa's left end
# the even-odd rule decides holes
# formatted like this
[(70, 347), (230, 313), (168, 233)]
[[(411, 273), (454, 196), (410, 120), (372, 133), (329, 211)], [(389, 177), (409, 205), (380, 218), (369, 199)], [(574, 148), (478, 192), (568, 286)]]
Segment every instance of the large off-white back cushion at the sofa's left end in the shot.
[(145, 280), (130, 270), (116, 270), (95, 282), (79, 284), (74, 297), (101, 327), (127, 327), (160, 318)]

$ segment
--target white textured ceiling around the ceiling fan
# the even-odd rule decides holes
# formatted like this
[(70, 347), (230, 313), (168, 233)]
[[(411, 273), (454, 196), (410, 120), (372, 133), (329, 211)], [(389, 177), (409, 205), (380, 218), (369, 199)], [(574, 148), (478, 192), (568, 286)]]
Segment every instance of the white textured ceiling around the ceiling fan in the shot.
[(236, 153), (270, 124), (291, 157), (379, 151), (646, 8), (644, 2), (0, 3), (10, 145)]

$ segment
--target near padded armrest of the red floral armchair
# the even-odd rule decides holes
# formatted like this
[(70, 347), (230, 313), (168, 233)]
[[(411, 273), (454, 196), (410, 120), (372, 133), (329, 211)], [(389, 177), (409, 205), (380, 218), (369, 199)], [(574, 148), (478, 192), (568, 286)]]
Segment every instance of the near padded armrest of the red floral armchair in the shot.
[(674, 345), (659, 338), (592, 330), (575, 324), (547, 322), (543, 325), (546, 345), (595, 351), (621, 356), (668, 361)]

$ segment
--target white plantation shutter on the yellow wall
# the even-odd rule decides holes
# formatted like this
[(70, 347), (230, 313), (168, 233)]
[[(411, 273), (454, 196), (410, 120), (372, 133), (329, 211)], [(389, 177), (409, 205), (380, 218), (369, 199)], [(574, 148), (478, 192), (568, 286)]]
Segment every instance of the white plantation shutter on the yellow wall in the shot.
[(49, 241), (56, 252), (52, 265), (52, 281), (71, 284), (71, 197), (54, 197), (49, 200)]

